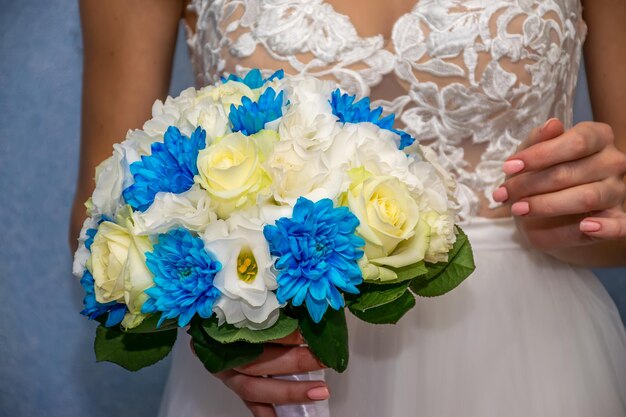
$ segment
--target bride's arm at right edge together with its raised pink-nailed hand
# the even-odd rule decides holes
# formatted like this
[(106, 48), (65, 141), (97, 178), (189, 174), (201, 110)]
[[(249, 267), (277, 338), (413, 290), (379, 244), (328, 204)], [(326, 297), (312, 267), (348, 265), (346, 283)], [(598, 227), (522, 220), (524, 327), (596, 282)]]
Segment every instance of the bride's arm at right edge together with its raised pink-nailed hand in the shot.
[(595, 122), (548, 122), (509, 158), (494, 193), (533, 246), (572, 264), (626, 264), (626, 3), (587, 0), (585, 58)]

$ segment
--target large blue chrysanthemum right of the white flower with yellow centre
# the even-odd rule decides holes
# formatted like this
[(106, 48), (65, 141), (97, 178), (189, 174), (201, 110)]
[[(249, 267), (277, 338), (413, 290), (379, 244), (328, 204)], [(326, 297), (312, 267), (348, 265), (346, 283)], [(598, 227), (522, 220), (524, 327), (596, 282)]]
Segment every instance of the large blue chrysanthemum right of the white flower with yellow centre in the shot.
[(365, 245), (354, 234), (359, 220), (347, 207), (333, 208), (329, 199), (313, 203), (300, 197), (293, 217), (283, 217), (276, 226), (263, 229), (272, 255), (279, 259), (276, 296), (280, 303), (292, 300), (294, 306), (306, 303), (316, 323), (328, 306), (344, 306), (339, 292), (358, 294), (363, 282), (357, 260)]

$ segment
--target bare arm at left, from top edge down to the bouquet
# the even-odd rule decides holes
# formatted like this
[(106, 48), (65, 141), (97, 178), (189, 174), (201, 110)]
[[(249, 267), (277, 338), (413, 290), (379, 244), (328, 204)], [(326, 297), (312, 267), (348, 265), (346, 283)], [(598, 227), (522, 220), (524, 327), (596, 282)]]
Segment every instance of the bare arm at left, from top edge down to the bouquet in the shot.
[(70, 242), (85, 218), (95, 167), (167, 95), (182, 0), (81, 0), (83, 97), (78, 185)]

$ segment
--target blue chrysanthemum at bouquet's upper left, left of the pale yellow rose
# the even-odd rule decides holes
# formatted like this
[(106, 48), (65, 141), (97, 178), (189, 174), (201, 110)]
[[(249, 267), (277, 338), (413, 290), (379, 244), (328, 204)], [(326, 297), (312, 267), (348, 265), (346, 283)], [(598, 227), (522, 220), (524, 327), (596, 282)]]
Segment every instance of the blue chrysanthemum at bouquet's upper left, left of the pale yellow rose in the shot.
[(198, 173), (198, 152), (206, 146), (206, 132), (198, 127), (191, 138), (170, 126), (163, 143), (152, 144), (152, 154), (130, 166), (135, 183), (123, 192), (124, 200), (134, 210), (150, 207), (159, 191), (183, 193), (193, 185)]

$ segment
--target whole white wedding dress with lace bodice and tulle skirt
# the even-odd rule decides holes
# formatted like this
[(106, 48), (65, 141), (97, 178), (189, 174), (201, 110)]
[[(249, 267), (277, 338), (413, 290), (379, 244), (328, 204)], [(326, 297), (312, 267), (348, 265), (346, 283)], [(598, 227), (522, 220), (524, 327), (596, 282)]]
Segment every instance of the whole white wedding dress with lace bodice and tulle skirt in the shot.
[[(334, 417), (626, 416), (626, 335), (602, 285), (527, 247), (510, 218), (484, 217), (530, 129), (572, 125), (579, 0), (418, 0), (390, 39), (322, 0), (189, 8), (198, 84), (251, 67), (333, 79), (395, 113), (459, 181), (476, 272), (396, 326), (349, 319), (350, 367), (327, 374)], [(179, 341), (160, 416), (247, 415)]]

